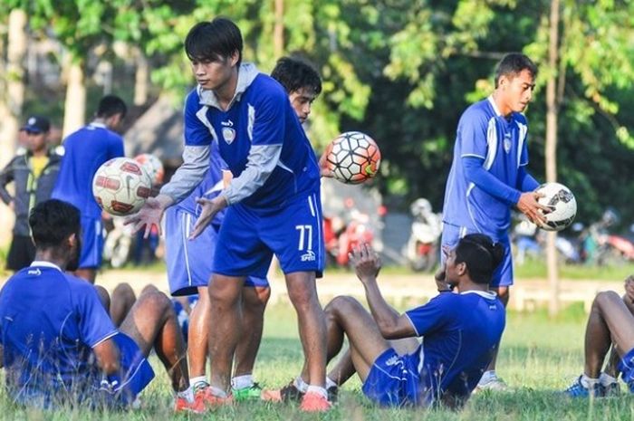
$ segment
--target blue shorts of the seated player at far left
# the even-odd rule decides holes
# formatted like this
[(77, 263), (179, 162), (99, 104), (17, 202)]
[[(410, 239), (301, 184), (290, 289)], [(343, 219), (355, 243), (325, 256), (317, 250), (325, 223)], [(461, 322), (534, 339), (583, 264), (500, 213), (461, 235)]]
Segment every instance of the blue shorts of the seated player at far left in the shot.
[(107, 407), (129, 407), (154, 378), (154, 370), (139, 345), (128, 335), (117, 333), (111, 339), (120, 351), (121, 376), (108, 376), (110, 388), (103, 388), (100, 384), (98, 393)]

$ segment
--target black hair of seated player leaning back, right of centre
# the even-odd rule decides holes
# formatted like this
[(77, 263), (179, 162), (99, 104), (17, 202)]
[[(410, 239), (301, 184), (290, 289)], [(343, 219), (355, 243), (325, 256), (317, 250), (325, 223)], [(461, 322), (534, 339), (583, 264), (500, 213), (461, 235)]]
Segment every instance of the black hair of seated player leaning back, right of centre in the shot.
[(485, 234), (468, 234), (456, 247), (456, 263), (466, 263), (471, 280), (489, 283), (495, 268), (504, 259), (504, 247)]

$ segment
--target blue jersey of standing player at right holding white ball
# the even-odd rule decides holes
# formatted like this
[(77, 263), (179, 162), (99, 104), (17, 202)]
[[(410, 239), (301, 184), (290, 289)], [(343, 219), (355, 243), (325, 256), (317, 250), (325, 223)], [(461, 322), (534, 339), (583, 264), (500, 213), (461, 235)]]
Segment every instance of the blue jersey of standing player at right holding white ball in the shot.
[(465, 232), (503, 237), (511, 223), (511, 204), (486, 193), (466, 177), (464, 158), (483, 159), (483, 167), (506, 186), (519, 189), (520, 167), (528, 164), (528, 126), (524, 115), (508, 119), (493, 98), (471, 105), (458, 122), (454, 159), (447, 178), (443, 221)]

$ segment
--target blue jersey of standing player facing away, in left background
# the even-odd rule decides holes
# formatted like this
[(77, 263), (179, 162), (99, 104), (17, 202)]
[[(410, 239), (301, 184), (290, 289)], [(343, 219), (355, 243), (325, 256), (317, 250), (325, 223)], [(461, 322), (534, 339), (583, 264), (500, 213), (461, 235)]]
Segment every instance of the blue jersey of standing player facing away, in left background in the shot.
[(52, 197), (76, 206), (82, 216), (101, 218), (101, 207), (92, 196), (92, 177), (107, 160), (123, 157), (123, 139), (102, 124), (91, 123), (68, 136), (63, 147)]

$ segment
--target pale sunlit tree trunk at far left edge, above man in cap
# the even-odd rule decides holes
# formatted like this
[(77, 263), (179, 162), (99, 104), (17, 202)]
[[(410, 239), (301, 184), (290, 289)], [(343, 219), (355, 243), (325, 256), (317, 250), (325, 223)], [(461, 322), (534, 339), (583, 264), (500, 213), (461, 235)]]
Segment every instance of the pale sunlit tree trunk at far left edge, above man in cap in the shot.
[[(28, 45), (26, 14), (14, 9), (9, 14), (6, 67), (3, 69), (3, 98), (0, 100), (0, 168), (14, 157), (17, 146), (19, 119), (24, 104), (24, 57)], [(0, 206), (0, 245), (11, 239), (14, 214), (7, 206)]]

